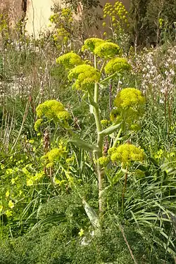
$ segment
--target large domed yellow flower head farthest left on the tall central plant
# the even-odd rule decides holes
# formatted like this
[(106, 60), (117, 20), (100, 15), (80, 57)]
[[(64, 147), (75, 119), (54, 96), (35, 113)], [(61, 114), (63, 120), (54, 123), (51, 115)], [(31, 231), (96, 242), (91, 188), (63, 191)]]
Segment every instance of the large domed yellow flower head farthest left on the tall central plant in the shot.
[(37, 116), (42, 118), (44, 115), (47, 119), (56, 120), (68, 120), (70, 117), (69, 113), (65, 111), (63, 104), (56, 100), (45, 101), (40, 103), (36, 108)]

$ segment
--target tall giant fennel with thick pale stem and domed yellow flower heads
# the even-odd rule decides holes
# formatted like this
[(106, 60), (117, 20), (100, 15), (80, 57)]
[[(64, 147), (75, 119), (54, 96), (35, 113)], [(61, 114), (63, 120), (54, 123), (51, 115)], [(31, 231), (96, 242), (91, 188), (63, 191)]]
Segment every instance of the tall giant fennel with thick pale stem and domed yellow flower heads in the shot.
[[(68, 132), (68, 141), (75, 146), (90, 151), (94, 154), (94, 163), (96, 166), (97, 179), (99, 183), (99, 213), (103, 215), (105, 210), (103, 201), (103, 191), (106, 189), (105, 168), (106, 165), (120, 164), (125, 168), (125, 184), (127, 181), (127, 169), (133, 161), (142, 162), (144, 151), (138, 146), (125, 142), (120, 144), (121, 135), (125, 131), (135, 130), (138, 127), (140, 115), (144, 105), (144, 96), (135, 88), (124, 88), (115, 96), (114, 108), (110, 113), (109, 120), (102, 120), (100, 110), (100, 89), (106, 85), (108, 80), (113, 80), (117, 75), (123, 75), (125, 71), (131, 69), (126, 58), (121, 58), (120, 47), (112, 42), (103, 39), (90, 38), (85, 40), (82, 51), (88, 51), (92, 54), (92, 61), (84, 61), (74, 52), (64, 54), (56, 59), (56, 62), (65, 67), (68, 71), (68, 80), (73, 82), (73, 89), (81, 90), (87, 96), (90, 112), (94, 115), (96, 124), (96, 143), (86, 142), (78, 136), (74, 127), (70, 125), (70, 114), (65, 110), (63, 104), (56, 100), (45, 101), (37, 106), (37, 117), (35, 129), (46, 120), (53, 120), (56, 125), (62, 127)], [(94, 59), (93, 59), (94, 58)], [(101, 65), (99, 68), (98, 65)], [(108, 135), (115, 135), (113, 143), (104, 150), (104, 144)], [(121, 137), (122, 139), (122, 137)], [(60, 160), (65, 151), (63, 149), (52, 149), (44, 156), (49, 160), (49, 166), (54, 163), (54, 159)], [(89, 204), (82, 197), (84, 208), (87, 215), (95, 227), (99, 226), (99, 218), (90, 208)]]

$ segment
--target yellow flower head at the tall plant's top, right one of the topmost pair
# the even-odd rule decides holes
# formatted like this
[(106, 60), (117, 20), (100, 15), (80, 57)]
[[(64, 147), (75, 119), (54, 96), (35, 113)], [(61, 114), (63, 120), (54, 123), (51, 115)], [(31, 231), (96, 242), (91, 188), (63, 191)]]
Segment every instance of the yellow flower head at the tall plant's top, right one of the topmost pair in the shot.
[(94, 54), (100, 58), (113, 58), (120, 52), (120, 46), (113, 42), (103, 42), (94, 49)]

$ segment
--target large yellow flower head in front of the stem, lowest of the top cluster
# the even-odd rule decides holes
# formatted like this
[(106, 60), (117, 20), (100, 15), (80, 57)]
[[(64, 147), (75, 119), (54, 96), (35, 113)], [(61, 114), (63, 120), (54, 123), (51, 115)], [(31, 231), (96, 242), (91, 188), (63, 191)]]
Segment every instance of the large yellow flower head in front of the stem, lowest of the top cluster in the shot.
[(99, 70), (87, 64), (76, 66), (68, 74), (68, 80), (75, 79), (73, 88), (78, 90), (92, 88), (94, 83), (99, 82), (99, 78)]

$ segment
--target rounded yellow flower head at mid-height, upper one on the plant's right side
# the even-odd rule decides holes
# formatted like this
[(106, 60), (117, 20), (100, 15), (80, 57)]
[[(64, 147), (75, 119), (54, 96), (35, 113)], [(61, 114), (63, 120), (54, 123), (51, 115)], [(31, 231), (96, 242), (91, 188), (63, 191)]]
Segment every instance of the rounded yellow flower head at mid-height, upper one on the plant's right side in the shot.
[(119, 108), (141, 106), (145, 103), (142, 92), (135, 88), (125, 88), (118, 92), (114, 105)]

